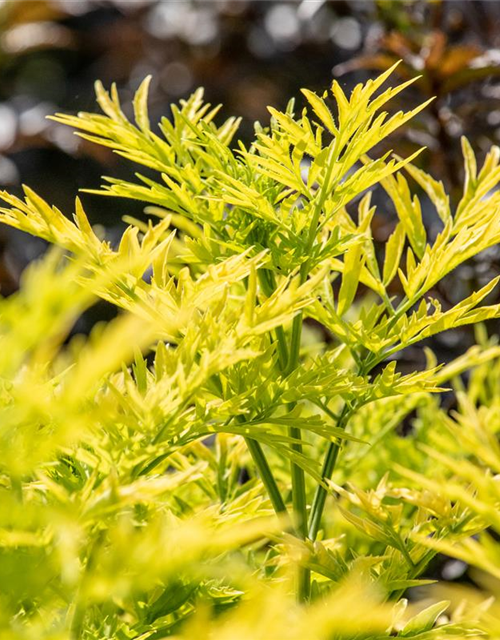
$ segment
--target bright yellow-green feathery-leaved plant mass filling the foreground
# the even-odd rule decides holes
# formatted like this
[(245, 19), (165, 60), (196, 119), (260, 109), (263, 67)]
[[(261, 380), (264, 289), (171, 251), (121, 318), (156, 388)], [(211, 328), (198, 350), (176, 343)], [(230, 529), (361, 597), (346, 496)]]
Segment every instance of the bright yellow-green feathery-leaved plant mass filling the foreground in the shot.
[[(495, 629), (473, 594), (408, 604), (438, 552), (500, 577), (498, 358), (478, 344), (398, 371), (404, 349), (500, 316), (495, 279), (429, 297), (500, 242), (500, 150), (452, 210), (441, 182), (376, 147), (392, 69), (350, 96), (304, 90), (234, 143), (201, 91), (150, 124), (58, 115), (143, 168), (99, 193), (149, 204), (118, 246), (3, 192), (0, 220), (56, 245), (0, 301), (0, 633), (5, 638), (442, 638)], [(397, 224), (376, 250), (372, 190)], [(428, 238), (422, 200), (441, 230)], [(401, 295), (391, 288), (397, 281)], [(104, 299), (120, 310), (72, 327)], [(493, 364), (492, 364), (493, 363)], [(472, 370), (468, 386), (460, 375)], [(457, 410), (440, 395), (452, 384)], [(415, 416), (408, 433), (401, 425)], [(464, 604), (466, 602), (466, 604)], [(488, 608), (487, 605), (490, 605)], [(428, 605), (428, 606), (427, 606)]]

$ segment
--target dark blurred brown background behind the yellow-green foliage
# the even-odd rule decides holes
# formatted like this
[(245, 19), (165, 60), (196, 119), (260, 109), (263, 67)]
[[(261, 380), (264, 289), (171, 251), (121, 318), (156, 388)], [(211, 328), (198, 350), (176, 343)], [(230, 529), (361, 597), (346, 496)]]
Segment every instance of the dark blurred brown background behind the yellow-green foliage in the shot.
[[(46, 119), (95, 110), (96, 79), (116, 82), (127, 105), (152, 74), (153, 122), (203, 86), (210, 102), (224, 105), (221, 117), (243, 116), (248, 141), (256, 120), (268, 122), (267, 105), (283, 109), (296, 96), (300, 108), (301, 87), (322, 92), (336, 78), (349, 90), (401, 59), (393, 82), (420, 79), (392, 108), (436, 100), (391, 137), (391, 148), (404, 156), (425, 145), (420, 166), (443, 180), (456, 202), (460, 136), (480, 160), (500, 142), (499, 27), (499, 0), (0, 0), (0, 188), (19, 193), (26, 183), (70, 215), (78, 189), (98, 187), (103, 174), (131, 176), (134, 168), (117, 155)], [(140, 203), (83, 200), (110, 238), (123, 229), (123, 215), (142, 211)], [(374, 235), (382, 243), (394, 216), (382, 197), (379, 204)], [(433, 237), (439, 228), (428, 203), (424, 216)], [(43, 250), (41, 241), (0, 226), (3, 295), (17, 289), (23, 268)], [(499, 273), (496, 247), (432, 295), (446, 308)], [(491, 300), (499, 301), (498, 294)], [(79, 329), (111, 313), (97, 305)], [(498, 323), (488, 329), (500, 333)], [(430, 346), (446, 361), (473, 341), (464, 329), (440, 334)], [(400, 366), (423, 362), (418, 348)], [(465, 566), (440, 562), (435, 571), (460, 579)]]

